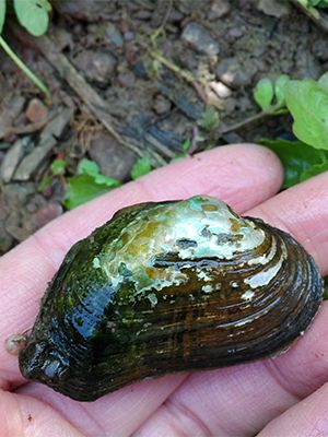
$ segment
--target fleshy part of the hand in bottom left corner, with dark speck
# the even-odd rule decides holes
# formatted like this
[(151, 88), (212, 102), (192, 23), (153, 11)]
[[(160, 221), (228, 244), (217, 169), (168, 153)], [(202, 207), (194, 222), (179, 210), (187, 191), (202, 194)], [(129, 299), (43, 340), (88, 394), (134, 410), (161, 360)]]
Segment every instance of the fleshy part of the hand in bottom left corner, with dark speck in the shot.
[(83, 437), (49, 405), (31, 397), (0, 390), (0, 436)]

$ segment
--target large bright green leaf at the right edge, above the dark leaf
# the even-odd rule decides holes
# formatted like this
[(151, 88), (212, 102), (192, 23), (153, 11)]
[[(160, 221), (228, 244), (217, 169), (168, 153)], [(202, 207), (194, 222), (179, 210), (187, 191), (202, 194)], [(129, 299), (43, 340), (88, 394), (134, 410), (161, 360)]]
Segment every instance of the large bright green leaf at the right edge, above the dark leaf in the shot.
[(328, 150), (328, 91), (312, 79), (290, 81), (285, 101), (297, 139), (315, 149)]

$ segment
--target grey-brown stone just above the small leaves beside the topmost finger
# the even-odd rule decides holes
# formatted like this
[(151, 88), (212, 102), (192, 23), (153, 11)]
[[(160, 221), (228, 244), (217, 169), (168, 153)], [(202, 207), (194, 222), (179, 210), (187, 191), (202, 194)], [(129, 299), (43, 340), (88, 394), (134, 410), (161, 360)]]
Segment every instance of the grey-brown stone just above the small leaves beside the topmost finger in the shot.
[(137, 161), (133, 152), (102, 132), (91, 141), (89, 154), (99, 165), (103, 175), (119, 180), (126, 180), (130, 176), (132, 165)]

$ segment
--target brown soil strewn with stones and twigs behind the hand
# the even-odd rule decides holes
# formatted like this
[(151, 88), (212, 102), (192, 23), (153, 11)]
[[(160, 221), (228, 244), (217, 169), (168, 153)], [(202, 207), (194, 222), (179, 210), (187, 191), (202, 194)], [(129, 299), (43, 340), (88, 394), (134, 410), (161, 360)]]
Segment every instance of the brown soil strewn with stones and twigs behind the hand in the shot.
[[(66, 177), (75, 174), (82, 157), (125, 182), (145, 153), (138, 144), (157, 166), (181, 152), (186, 140), (195, 153), (226, 142), (288, 135), (290, 123), (282, 118), (234, 129), (258, 111), (255, 84), (281, 73), (296, 79), (327, 71), (327, 36), (286, 1), (52, 4), (48, 38), (105, 101), (122, 141), (33, 39), (25, 44), (23, 32), (8, 26), (5, 39), (49, 86), (51, 102), (0, 52), (0, 253), (63, 212)], [(209, 106), (220, 123), (203, 122)], [(126, 147), (129, 142), (134, 149)], [(58, 157), (67, 162), (66, 176), (50, 174)], [(49, 175), (49, 184), (40, 188)]]

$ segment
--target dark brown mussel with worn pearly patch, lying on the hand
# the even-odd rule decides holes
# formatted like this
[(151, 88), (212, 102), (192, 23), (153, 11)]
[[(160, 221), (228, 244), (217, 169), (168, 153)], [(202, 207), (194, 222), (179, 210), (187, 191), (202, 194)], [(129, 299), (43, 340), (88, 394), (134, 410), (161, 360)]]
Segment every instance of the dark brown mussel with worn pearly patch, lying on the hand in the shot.
[(180, 370), (272, 356), (311, 323), (323, 282), (290, 235), (220, 200), (126, 208), (49, 284), (22, 374), (92, 401)]

